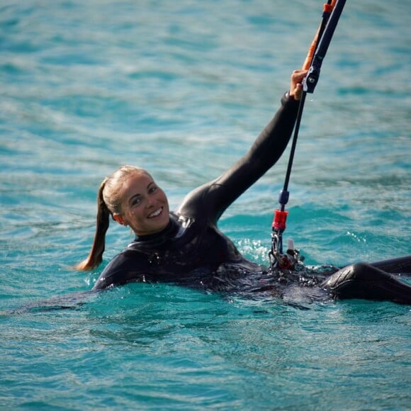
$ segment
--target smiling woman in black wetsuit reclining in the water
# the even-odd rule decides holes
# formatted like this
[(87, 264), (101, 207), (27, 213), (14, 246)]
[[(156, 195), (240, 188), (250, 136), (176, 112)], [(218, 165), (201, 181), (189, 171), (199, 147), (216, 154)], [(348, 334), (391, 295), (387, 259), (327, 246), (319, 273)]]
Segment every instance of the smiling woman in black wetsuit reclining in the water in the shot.
[[(130, 281), (164, 281), (212, 291), (285, 298), (287, 289), (316, 286), (310, 298), (368, 298), (411, 303), (411, 287), (374, 266), (356, 264), (332, 276), (295, 271), (269, 271), (248, 261), (217, 223), (227, 207), (268, 171), (286, 149), (298, 112), (305, 70), (291, 75), (290, 91), (281, 108), (247, 154), (218, 179), (188, 194), (175, 213), (167, 196), (144, 169), (123, 166), (105, 179), (98, 191), (96, 235), (89, 257), (77, 269), (94, 269), (102, 261), (110, 217), (129, 226), (135, 240), (114, 257), (94, 290)], [(402, 260), (401, 260), (402, 261)], [(405, 266), (404, 266), (405, 264)], [(383, 264), (381, 264), (383, 267)], [(397, 266), (395, 267), (397, 268)], [(411, 258), (401, 270), (411, 271)], [(330, 273), (328, 273), (329, 275)]]

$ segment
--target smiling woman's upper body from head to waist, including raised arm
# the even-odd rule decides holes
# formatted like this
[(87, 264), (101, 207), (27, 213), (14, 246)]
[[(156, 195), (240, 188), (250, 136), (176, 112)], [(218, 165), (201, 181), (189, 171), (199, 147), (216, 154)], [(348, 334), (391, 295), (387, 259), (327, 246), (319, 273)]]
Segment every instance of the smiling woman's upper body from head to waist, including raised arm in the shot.
[[(189, 193), (176, 213), (169, 213), (167, 196), (144, 169), (123, 166), (105, 179), (98, 190), (94, 244), (89, 257), (76, 268), (93, 269), (101, 263), (111, 217), (120, 225), (130, 226), (136, 240), (133, 247), (130, 244), (111, 261), (95, 288), (142, 281), (143, 274), (145, 279), (151, 274), (153, 281), (185, 281), (185, 276), (198, 269), (204, 278), (195, 282), (203, 284), (215, 278), (216, 273), (221, 274), (224, 264), (238, 264), (237, 275), (244, 266), (261, 271), (258, 264), (241, 256), (234, 243), (218, 230), (217, 223), (227, 207), (272, 167), (286, 149), (306, 73), (293, 72), (290, 91), (283, 97), (281, 108), (251, 149), (220, 177)], [(159, 245), (164, 243), (167, 247), (160, 252)], [(130, 254), (131, 249), (134, 252)], [(123, 266), (124, 261), (127, 267)]]

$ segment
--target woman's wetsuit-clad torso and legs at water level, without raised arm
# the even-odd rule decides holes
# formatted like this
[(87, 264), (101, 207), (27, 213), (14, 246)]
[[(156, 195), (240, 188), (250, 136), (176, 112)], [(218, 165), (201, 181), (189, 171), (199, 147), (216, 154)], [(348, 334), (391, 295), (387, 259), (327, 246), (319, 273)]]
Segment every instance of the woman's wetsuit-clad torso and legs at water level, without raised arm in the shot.
[(245, 259), (217, 227), (176, 214), (165, 230), (136, 238), (101, 273), (94, 290), (130, 282), (166, 282), (247, 298), (288, 302), (334, 298), (392, 300), (411, 304), (411, 287), (393, 274), (411, 273), (411, 256), (373, 264), (271, 270)]

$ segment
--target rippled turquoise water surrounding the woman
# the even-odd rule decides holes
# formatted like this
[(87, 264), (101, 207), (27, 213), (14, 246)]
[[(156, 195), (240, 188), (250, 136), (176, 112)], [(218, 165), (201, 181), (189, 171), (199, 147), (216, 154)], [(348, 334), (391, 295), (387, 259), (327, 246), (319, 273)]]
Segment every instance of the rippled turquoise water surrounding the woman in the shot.
[[(175, 207), (218, 176), (278, 107), (321, 9), (0, 2), (1, 409), (410, 409), (407, 306), (298, 310), (130, 284), (44, 308), (101, 272), (69, 266), (89, 251), (103, 177), (145, 167)], [(411, 254), (410, 12), (347, 1), (308, 96), (286, 230), (308, 264)], [(287, 160), (220, 223), (254, 261), (267, 261)], [(111, 227), (104, 264), (129, 240)]]

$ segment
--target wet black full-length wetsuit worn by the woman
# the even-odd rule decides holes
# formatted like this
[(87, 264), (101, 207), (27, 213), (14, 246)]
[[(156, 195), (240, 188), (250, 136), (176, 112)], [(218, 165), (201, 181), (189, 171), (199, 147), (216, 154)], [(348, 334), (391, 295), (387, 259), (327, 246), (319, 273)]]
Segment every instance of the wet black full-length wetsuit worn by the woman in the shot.
[[(358, 270), (351, 274), (347, 271), (345, 274), (336, 273), (332, 277), (329, 277), (330, 272), (327, 276), (308, 276), (301, 272), (274, 273), (242, 257), (235, 244), (217, 227), (227, 207), (281, 157), (290, 140), (297, 111), (298, 102), (283, 96), (281, 108), (247, 154), (218, 179), (189, 193), (176, 213), (171, 213), (169, 225), (162, 232), (136, 237), (106, 266), (94, 290), (131, 281), (159, 281), (210, 291), (265, 293), (283, 297), (287, 286), (297, 283), (319, 286), (317, 288), (328, 291), (328, 298), (330, 291), (342, 297), (349, 295), (350, 284), (361, 282), (361, 278), (356, 278)], [(339, 280), (336, 275), (339, 275)], [(389, 280), (400, 283), (391, 276)], [(405, 291), (401, 289), (400, 294), (405, 292), (408, 303), (411, 303), (411, 287), (406, 289), (403, 283), (401, 286)], [(339, 288), (347, 292), (339, 293)], [(363, 294), (354, 296), (379, 299), (376, 298), (379, 295), (368, 291)], [(383, 293), (383, 299), (395, 300), (395, 296)], [(400, 301), (401, 298), (397, 300), (404, 302)]]

